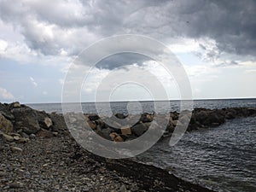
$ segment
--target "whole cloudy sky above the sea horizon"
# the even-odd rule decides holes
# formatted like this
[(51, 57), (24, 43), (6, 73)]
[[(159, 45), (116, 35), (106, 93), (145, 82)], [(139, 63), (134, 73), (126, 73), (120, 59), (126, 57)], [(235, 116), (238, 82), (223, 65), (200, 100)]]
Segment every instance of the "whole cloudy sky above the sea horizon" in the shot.
[[(61, 102), (81, 51), (123, 34), (165, 44), (187, 73), (193, 99), (255, 98), (255, 18), (253, 0), (0, 0), (0, 102)], [(96, 94), (111, 101), (180, 99), (176, 79), (145, 55), (110, 55), (84, 70), (83, 102)], [(126, 77), (140, 84), (113, 87)], [(142, 85), (148, 82), (166, 97), (152, 96)]]

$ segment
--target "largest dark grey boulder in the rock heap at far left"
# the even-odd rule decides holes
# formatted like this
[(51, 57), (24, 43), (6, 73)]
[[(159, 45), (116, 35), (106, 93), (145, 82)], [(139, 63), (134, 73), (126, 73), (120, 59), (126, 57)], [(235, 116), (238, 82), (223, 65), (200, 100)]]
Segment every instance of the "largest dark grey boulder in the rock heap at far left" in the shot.
[(40, 130), (38, 113), (32, 108), (13, 108), (11, 112), (15, 115), (16, 130), (22, 130), (29, 135), (35, 134)]

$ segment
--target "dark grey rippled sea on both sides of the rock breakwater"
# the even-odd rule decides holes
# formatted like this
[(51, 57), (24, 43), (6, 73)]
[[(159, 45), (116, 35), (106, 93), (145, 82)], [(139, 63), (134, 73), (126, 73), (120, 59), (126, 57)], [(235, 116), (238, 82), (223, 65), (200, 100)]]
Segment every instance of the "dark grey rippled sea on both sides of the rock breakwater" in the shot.
[[(106, 113), (153, 113), (156, 102), (101, 102)], [(169, 102), (168, 102), (169, 103)], [(158, 101), (160, 113), (180, 110), (180, 101)], [(48, 113), (62, 113), (61, 103), (27, 104)], [(256, 99), (195, 100), (193, 108), (256, 108)], [(97, 113), (93, 102), (81, 103), (84, 113)], [(98, 109), (98, 108), (97, 108)], [(70, 103), (70, 111), (73, 111)], [(214, 128), (184, 134), (174, 146), (166, 138), (133, 158), (158, 166), (177, 177), (220, 192), (256, 191), (256, 117), (227, 120)]]

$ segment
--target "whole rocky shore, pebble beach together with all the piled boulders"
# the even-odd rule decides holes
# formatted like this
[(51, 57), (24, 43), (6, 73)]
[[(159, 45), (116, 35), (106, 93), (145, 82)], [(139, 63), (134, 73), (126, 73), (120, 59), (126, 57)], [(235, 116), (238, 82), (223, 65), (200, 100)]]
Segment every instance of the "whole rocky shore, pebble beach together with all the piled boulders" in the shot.
[[(170, 113), (166, 135), (182, 123), (178, 116)], [(256, 109), (195, 108), (188, 131), (248, 116), (256, 116)], [(135, 125), (118, 130), (96, 114), (84, 114), (84, 119), (98, 135), (125, 142), (147, 131), (154, 114), (143, 113)], [(62, 114), (37, 111), (19, 102), (0, 103), (0, 153), (1, 191), (211, 191), (154, 166), (91, 154), (71, 137)]]

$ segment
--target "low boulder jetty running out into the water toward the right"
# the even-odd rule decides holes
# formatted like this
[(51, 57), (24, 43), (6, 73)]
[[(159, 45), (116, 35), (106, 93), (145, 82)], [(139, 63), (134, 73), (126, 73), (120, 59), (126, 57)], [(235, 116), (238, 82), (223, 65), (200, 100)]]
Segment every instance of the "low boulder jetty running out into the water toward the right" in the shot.
[[(125, 115), (116, 113), (113, 116), (105, 121), (97, 114), (84, 114), (84, 117), (76, 118), (75, 113), (73, 113), (73, 115), (69, 114), (69, 121), (75, 125), (74, 129), (76, 129), (85, 120), (91, 130), (95, 131), (99, 136), (112, 140), (113, 142), (125, 142), (140, 137), (148, 131), (154, 122), (154, 117), (158, 119), (156, 128), (166, 125), (161, 130), (163, 131), (163, 137), (168, 137), (172, 136), (172, 132), (177, 125), (183, 125), (185, 121), (189, 122), (187, 131), (217, 127), (218, 125), (224, 124), (226, 120), (256, 116), (256, 108), (195, 108), (192, 113), (189, 113), (189, 111), (183, 113), (171, 112), (170, 115), (155, 115), (154, 113)], [(134, 119), (138, 120), (136, 121)]]

